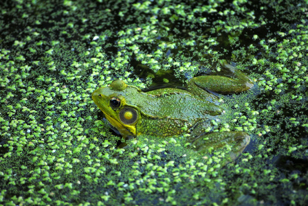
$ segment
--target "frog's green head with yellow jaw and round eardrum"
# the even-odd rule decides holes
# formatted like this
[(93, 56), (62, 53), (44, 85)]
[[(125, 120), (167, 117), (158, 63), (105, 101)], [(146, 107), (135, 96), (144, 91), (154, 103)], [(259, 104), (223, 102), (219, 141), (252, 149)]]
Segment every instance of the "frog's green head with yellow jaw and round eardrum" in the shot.
[(92, 93), (95, 104), (124, 138), (137, 135), (140, 111), (136, 106), (127, 104), (126, 98), (138, 92), (140, 89), (137, 87), (127, 86), (122, 80), (114, 80), (109, 87), (100, 87)]

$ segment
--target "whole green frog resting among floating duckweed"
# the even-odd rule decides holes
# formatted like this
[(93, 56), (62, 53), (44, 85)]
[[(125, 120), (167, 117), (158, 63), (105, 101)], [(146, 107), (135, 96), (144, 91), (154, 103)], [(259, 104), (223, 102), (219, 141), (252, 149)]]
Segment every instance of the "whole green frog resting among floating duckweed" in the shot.
[(206, 128), (212, 126), (212, 121), (219, 122), (225, 113), (218, 94), (241, 93), (254, 84), (232, 65), (222, 66), (229, 71), (229, 76), (196, 76), (189, 80), (187, 89), (144, 92), (123, 80), (113, 80), (109, 86), (96, 89), (91, 97), (124, 139), (185, 134), (188, 147), (199, 153), (232, 144), (230, 159), (234, 160), (250, 143), (250, 135), (242, 131), (209, 133)]

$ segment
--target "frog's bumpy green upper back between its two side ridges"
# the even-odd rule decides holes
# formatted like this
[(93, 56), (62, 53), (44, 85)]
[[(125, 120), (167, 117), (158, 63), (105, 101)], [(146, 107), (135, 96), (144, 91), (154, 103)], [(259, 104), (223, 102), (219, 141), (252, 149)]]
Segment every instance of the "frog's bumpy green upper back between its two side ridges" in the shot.
[[(161, 91), (159, 91), (161, 90)], [(221, 115), (220, 106), (208, 102), (182, 89), (157, 89), (142, 93), (131, 100), (144, 115), (176, 119), (203, 119), (208, 115)]]

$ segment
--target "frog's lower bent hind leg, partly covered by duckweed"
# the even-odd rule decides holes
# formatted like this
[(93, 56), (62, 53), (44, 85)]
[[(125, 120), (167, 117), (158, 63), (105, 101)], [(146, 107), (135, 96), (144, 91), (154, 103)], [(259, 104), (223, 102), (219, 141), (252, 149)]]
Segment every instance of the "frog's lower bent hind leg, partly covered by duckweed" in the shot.
[[(218, 150), (225, 146), (230, 146), (231, 151), (228, 152), (230, 161), (233, 161), (248, 146), (250, 143), (250, 136), (243, 132), (224, 132), (224, 133), (210, 133), (193, 139), (190, 147), (198, 153), (211, 153), (212, 150)], [(228, 160), (227, 160), (228, 161)]]

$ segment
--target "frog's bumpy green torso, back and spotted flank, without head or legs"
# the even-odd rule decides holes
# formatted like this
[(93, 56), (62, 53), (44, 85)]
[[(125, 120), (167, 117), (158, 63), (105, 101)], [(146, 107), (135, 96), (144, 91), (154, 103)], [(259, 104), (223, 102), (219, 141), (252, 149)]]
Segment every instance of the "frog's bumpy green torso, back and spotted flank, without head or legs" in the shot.
[(159, 89), (140, 94), (142, 98), (129, 99), (129, 103), (140, 108), (142, 121), (137, 125), (137, 132), (141, 134), (180, 135), (186, 131), (184, 128), (190, 129), (223, 112), (220, 106), (181, 89)]

